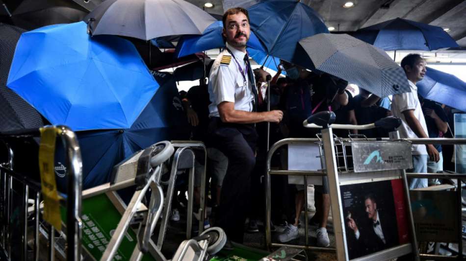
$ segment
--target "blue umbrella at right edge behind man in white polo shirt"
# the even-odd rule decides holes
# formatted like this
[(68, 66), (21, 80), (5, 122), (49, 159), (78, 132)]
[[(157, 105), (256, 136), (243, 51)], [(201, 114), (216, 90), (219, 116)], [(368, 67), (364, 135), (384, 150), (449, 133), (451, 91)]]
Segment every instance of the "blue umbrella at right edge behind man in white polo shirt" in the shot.
[(416, 86), (422, 97), (466, 112), (466, 82), (455, 75), (427, 67), (426, 75)]

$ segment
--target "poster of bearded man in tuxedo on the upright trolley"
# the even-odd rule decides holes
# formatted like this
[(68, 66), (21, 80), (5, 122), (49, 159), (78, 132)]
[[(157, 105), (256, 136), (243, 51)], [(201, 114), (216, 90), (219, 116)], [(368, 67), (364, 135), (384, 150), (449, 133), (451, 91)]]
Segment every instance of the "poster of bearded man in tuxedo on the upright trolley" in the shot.
[(409, 241), (401, 180), (340, 187), (350, 259)]

